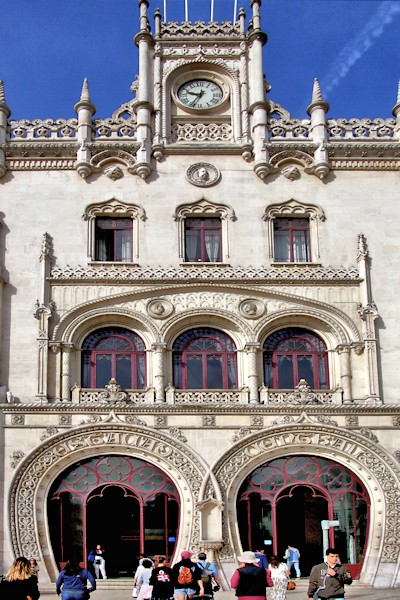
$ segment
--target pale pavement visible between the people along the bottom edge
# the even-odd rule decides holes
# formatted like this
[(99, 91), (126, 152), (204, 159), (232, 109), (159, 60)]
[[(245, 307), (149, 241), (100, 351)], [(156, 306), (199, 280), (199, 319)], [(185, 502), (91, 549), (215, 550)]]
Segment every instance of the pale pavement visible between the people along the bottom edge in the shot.
[[(110, 580), (98, 582), (98, 589), (91, 594), (91, 600), (132, 600), (132, 580)], [(296, 581), (295, 590), (287, 592), (286, 600), (306, 600), (308, 580), (301, 579)], [(40, 585), (39, 585), (40, 587)], [(270, 594), (267, 594), (270, 600)], [(41, 600), (57, 600), (58, 596), (54, 591), (41, 589)], [(58, 598), (59, 600), (59, 598)], [(235, 600), (233, 591), (217, 592), (214, 600)], [(357, 581), (351, 586), (346, 586), (346, 600), (400, 600), (400, 588), (381, 589), (371, 588), (359, 584)]]

